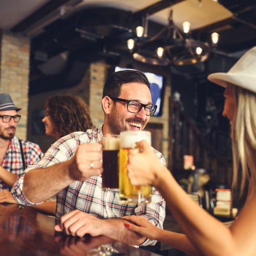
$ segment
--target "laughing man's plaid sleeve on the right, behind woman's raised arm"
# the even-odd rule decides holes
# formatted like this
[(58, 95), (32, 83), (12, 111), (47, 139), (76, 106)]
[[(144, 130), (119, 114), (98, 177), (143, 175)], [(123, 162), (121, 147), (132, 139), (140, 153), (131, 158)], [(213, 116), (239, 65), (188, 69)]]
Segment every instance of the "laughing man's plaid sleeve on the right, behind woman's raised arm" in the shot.
[[(163, 155), (156, 150), (154, 150), (154, 152), (162, 165), (166, 166)], [(152, 188), (151, 203), (138, 205), (135, 209), (135, 215), (144, 217), (154, 226), (163, 229), (163, 221), (165, 219), (165, 201), (156, 188)], [(155, 245), (156, 242), (157, 241), (155, 240), (146, 239), (140, 246)]]

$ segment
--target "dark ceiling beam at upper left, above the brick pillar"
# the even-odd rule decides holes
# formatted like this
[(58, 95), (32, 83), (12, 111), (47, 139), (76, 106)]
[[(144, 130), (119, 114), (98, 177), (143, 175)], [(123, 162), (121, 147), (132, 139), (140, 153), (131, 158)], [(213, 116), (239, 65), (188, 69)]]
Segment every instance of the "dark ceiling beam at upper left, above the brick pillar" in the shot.
[(34, 25), (35, 23), (39, 22), (40, 19), (47, 16), (49, 13), (55, 11), (60, 6), (66, 4), (70, 0), (50, 0), (37, 11), (33, 12), (30, 16), (23, 19), (20, 23), (12, 27), (11, 31), (14, 33), (23, 32), (30, 26)]

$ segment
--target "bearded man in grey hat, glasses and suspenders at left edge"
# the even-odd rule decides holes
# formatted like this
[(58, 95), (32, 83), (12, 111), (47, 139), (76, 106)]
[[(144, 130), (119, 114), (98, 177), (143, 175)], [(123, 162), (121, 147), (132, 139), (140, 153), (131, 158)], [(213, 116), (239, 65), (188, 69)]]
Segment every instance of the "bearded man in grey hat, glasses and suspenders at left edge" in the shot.
[(6, 202), (1, 190), (11, 190), (17, 176), (42, 157), (37, 144), (15, 136), (19, 110), (8, 93), (0, 94), (0, 203)]

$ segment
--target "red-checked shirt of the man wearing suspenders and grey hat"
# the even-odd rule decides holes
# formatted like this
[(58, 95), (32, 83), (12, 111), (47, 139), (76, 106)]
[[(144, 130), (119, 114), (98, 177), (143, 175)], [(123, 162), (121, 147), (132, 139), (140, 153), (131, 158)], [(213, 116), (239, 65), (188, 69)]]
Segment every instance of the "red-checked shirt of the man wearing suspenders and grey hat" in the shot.
[[(25, 167), (36, 163), (42, 157), (42, 152), (40, 147), (30, 141), (22, 140)], [(19, 141), (16, 136), (14, 136), (9, 144), (8, 150), (6, 152), (5, 158), (3, 159), (2, 165), (3, 168), (8, 170), (8, 172), (19, 175), (23, 172), (23, 162), (22, 154), (20, 152)], [(11, 190), (7, 184), (0, 180), (0, 190), (8, 189)]]

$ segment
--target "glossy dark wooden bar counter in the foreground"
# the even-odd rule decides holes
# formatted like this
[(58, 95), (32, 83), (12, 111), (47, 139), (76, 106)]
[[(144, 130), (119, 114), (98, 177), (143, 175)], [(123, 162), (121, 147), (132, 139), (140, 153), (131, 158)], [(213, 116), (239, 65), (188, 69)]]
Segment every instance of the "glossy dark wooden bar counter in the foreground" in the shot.
[(0, 255), (157, 255), (103, 236), (65, 236), (54, 225), (29, 206), (0, 204)]

